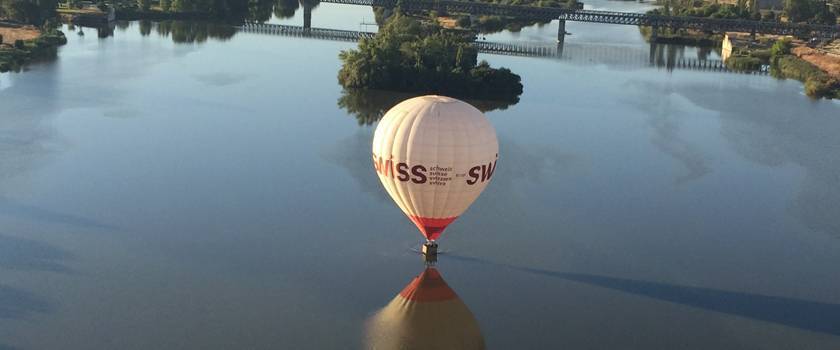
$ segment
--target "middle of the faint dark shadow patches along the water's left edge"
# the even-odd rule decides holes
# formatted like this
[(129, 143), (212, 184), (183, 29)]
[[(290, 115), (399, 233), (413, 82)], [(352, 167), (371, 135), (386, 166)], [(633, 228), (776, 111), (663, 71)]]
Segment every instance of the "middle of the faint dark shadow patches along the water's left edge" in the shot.
[(70, 253), (43, 242), (0, 235), (0, 267), (3, 268), (69, 273), (63, 261), (70, 258)]

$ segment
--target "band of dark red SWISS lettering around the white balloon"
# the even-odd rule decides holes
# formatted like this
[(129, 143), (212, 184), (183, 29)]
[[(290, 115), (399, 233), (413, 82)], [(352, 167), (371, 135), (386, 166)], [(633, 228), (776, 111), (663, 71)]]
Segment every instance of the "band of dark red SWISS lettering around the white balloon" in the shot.
[(439, 165), (427, 166), (423, 164), (408, 164), (406, 162), (396, 162), (392, 157), (385, 159), (381, 156), (373, 154), (373, 168), (380, 176), (397, 179), (401, 182), (413, 182), (415, 184), (433, 184), (445, 186), (449, 181), (454, 179), (464, 179), (467, 185), (475, 185), (477, 183), (484, 183), (490, 181), (493, 173), (496, 171), (496, 162), (499, 160), (499, 154), (496, 154), (496, 160), (487, 164), (479, 164), (471, 167), (466, 173), (459, 173), (454, 171), (452, 167), (441, 167)]

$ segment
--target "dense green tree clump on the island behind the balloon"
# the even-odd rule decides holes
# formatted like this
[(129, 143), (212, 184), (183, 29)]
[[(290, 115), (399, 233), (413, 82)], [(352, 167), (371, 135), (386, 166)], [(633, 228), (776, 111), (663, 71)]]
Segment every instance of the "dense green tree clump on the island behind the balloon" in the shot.
[(478, 63), (472, 39), (397, 13), (357, 50), (342, 51), (338, 81), (378, 89), (517, 102), (519, 75)]

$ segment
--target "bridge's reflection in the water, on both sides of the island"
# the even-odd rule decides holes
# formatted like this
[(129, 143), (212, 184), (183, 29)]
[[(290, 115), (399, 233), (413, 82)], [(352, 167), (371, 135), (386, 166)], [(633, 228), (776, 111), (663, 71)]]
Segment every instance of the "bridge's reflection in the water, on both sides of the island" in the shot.
[[(346, 42), (357, 42), (363, 38), (372, 38), (376, 36), (376, 33), (374, 32), (307, 28), (282, 24), (248, 23), (238, 27), (238, 29), (239, 31), (246, 33)], [(548, 58), (579, 64), (607, 64), (611, 67), (625, 69), (658, 67), (668, 70), (685, 69), (742, 73), (739, 71), (729, 70), (721, 60), (687, 58), (677, 53), (669, 53), (663, 49), (665, 47), (664, 45), (657, 44), (651, 44), (649, 50), (641, 49), (638, 46), (604, 47), (595, 45), (566, 44), (564, 42), (548, 46), (540, 44), (508, 44), (475, 41), (473, 45), (475, 45), (476, 49), (478, 49), (480, 53), (485, 54)], [(758, 72), (757, 74), (766, 74), (766, 72)]]

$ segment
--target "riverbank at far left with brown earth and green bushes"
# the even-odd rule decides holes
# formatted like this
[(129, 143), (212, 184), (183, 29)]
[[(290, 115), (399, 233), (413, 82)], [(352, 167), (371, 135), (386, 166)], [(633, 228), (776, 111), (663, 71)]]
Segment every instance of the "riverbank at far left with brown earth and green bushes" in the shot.
[(67, 43), (59, 30), (42, 32), (33, 26), (0, 27), (0, 73), (19, 71), (24, 65), (55, 57), (58, 46)]

